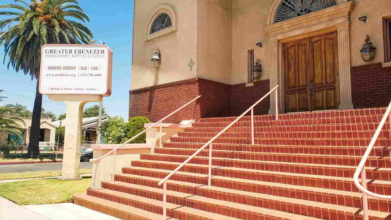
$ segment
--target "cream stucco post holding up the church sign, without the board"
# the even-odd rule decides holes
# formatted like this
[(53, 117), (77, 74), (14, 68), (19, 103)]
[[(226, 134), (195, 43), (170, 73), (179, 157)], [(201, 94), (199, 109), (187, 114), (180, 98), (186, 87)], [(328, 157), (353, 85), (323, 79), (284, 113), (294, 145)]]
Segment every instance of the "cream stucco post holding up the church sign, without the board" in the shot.
[(60, 180), (81, 180), (79, 175), (81, 128), (83, 108), (88, 102), (102, 101), (99, 95), (48, 95), (53, 101), (63, 101), (66, 105), (66, 128), (63, 154), (63, 174)]

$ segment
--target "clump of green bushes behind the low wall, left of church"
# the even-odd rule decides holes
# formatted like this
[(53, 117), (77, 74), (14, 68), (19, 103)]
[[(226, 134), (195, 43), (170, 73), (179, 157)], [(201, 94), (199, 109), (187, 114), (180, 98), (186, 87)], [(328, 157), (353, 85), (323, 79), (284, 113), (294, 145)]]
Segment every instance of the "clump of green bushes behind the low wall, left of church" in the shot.
[[(111, 117), (100, 126), (102, 140), (108, 144), (122, 144), (123, 142), (142, 132), (144, 123), (150, 123), (146, 117), (133, 117), (125, 122), (120, 116)], [(146, 135), (143, 133), (131, 143), (145, 143)]]

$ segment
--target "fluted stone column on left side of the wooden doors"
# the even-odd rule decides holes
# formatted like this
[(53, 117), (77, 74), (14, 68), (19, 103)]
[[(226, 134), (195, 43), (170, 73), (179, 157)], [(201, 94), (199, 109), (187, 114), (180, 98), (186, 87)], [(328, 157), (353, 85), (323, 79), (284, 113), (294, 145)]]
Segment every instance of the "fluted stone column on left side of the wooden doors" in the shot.
[[(278, 85), (278, 40), (273, 40), (267, 42), (269, 46), (269, 81), (270, 89)], [(281, 91), (279, 89), (279, 91)], [(269, 114), (276, 113), (276, 93), (272, 92), (270, 94), (270, 109)]]

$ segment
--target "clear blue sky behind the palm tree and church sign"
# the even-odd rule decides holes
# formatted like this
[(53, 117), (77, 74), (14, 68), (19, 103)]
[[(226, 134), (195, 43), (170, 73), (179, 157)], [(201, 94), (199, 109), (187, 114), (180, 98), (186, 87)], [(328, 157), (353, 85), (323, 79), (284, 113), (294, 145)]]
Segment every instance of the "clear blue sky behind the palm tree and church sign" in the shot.
[[(0, 0), (0, 4), (13, 4), (13, 0)], [(109, 115), (121, 115), (127, 120), (129, 112), (129, 88), (131, 75), (131, 46), (133, 31), (133, 0), (120, 1), (96, 1), (79, 0), (91, 22), (86, 22), (94, 34), (113, 50), (113, 88), (109, 97), (103, 98), (103, 107)], [(4, 19), (5, 16), (0, 16)], [(4, 46), (0, 49), (1, 61), (4, 58)], [(7, 59), (6, 59), (7, 64)], [(0, 90), (4, 90), (2, 96), (7, 96), (0, 105), (20, 103), (30, 110), (34, 106), (36, 79), (31, 81), (29, 75), (23, 72), (16, 73), (8, 70), (6, 65), (0, 63)], [(87, 103), (84, 108), (99, 103)], [(51, 101), (43, 95), (42, 107), (46, 111), (52, 111), (57, 116), (66, 112), (63, 102)]]

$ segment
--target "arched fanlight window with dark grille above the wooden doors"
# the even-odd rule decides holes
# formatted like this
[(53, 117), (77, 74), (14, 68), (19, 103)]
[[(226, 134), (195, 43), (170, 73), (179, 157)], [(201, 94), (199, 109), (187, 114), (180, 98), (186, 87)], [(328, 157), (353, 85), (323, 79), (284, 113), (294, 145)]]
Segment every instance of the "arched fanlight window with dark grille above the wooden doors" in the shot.
[(337, 5), (337, 0), (283, 0), (278, 6), (274, 23)]

